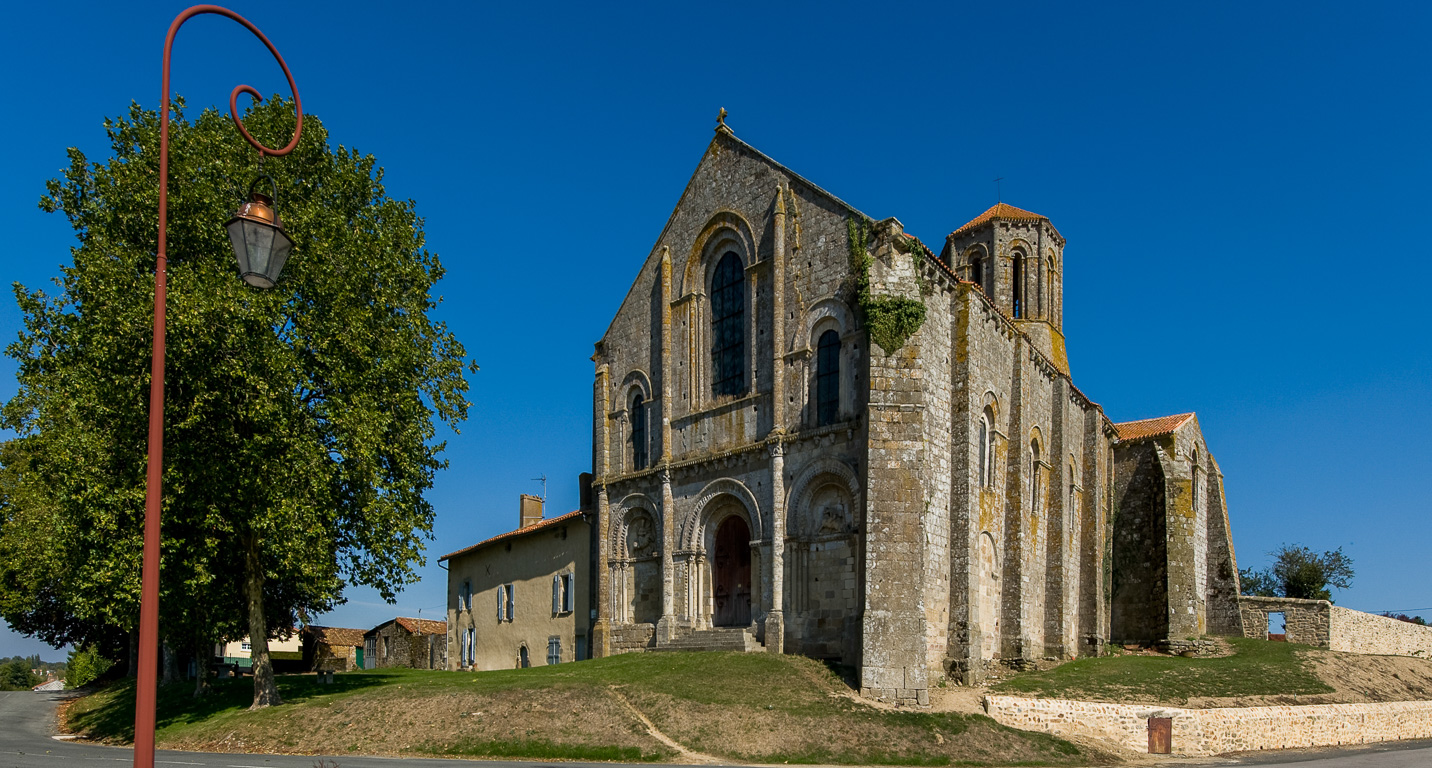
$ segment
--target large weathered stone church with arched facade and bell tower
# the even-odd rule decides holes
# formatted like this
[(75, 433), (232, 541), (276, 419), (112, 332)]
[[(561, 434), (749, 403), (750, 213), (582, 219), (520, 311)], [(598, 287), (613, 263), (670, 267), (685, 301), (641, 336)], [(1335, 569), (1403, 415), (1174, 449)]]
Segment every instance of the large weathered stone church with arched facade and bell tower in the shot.
[(593, 355), (593, 655), (803, 653), (924, 704), (1240, 633), (1197, 418), (1074, 385), (1064, 245), (998, 203), (937, 252), (717, 125)]

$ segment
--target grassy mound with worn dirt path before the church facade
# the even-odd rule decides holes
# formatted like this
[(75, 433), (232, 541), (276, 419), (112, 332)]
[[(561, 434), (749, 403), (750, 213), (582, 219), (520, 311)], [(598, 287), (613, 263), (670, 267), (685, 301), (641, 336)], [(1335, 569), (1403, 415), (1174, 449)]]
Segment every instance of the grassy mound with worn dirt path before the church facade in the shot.
[[(766, 653), (632, 653), (501, 672), (369, 671), (281, 676), (285, 705), (246, 709), (251, 681), (212, 696), (162, 689), (163, 748), (298, 754), (662, 761), (687, 749), (732, 761), (876, 765), (1070, 765), (1074, 745), (981, 715), (875, 709), (819, 662)], [(77, 701), (67, 725), (132, 738), (133, 686)]]

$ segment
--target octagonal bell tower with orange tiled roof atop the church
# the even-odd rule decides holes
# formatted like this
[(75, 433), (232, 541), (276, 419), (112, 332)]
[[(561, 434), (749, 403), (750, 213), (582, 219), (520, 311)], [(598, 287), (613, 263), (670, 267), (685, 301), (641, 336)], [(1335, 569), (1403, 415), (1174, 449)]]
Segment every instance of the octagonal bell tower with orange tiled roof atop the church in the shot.
[(1050, 219), (1000, 202), (945, 238), (941, 258), (978, 285), (1064, 374), (1064, 236)]

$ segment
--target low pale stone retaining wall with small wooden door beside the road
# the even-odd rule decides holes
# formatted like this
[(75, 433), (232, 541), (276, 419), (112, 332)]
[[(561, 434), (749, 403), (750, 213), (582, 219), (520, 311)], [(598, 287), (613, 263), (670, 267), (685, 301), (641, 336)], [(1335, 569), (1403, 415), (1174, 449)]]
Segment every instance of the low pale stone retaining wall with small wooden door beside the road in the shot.
[(1148, 718), (1173, 718), (1173, 754), (1336, 747), (1432, 738), (1432, 701), (1179, 709), (1140, 704), (985, 696), (1002, 725), (1148, 752)]

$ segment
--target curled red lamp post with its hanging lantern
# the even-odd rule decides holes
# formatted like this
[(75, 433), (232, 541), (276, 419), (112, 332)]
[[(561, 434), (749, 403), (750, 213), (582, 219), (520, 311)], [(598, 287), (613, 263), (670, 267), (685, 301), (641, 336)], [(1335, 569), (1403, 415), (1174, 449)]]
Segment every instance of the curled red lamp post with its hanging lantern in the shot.
[[(173, 23), (169, 24), (169, 36), (165, 37), (163, 99), (159, 107), (159, 255), (155, 268), (155, 348), (149, 384), (149, 466), (145, 476), (145, 565), (139, 593), (135, 768), (153, 768), (155, 765), (155, 686), (159, 668), (159, 517), (163, 499), (165, 459), (165, 265), (168, 262), (165, 225), (169, 218), (169, 59), (179, 27), (189, 19), (205, 13), (233, 19), (262, 40), (274, 59), (278, 60), (278, 66), (284, 67), (288, 87), (294, 93), (294, 107), (298, 113), (294, 138), (281, 149), (269, 149), (251, 136), (243, 128), (243, 122), (239, 120), (239, 93), (248, 93), (255, 100), (262, 100), (262, 96), (249, 86), (235, 87), (229, 93), (229, 116), (233, 117), (233, 125), (238, 126), (243, 140), (258, 149), (261, 156), (282, 156), (298, 146), (298, 136), (304, 130), (304, 106), (298, 100), (294, 75), (288, 70), (288, 64), (284, 63), (284, 57), (279, 56), (274, 43), (258, 27), (238, 13), (219, 6), (193, 6), (175, 17)], [(278, 222), (278, 213), (274, 212), (272, 205), (272, 198), (253, 193), (251, 189), (249, 202), (239, 208), (228, 224), (245, 282), (262, 288), (274, 285), (278, 279), (278, 271), (284, 268), (284, 261), (288, 259), (288, 251), (292, 248), (292, 241)]]

